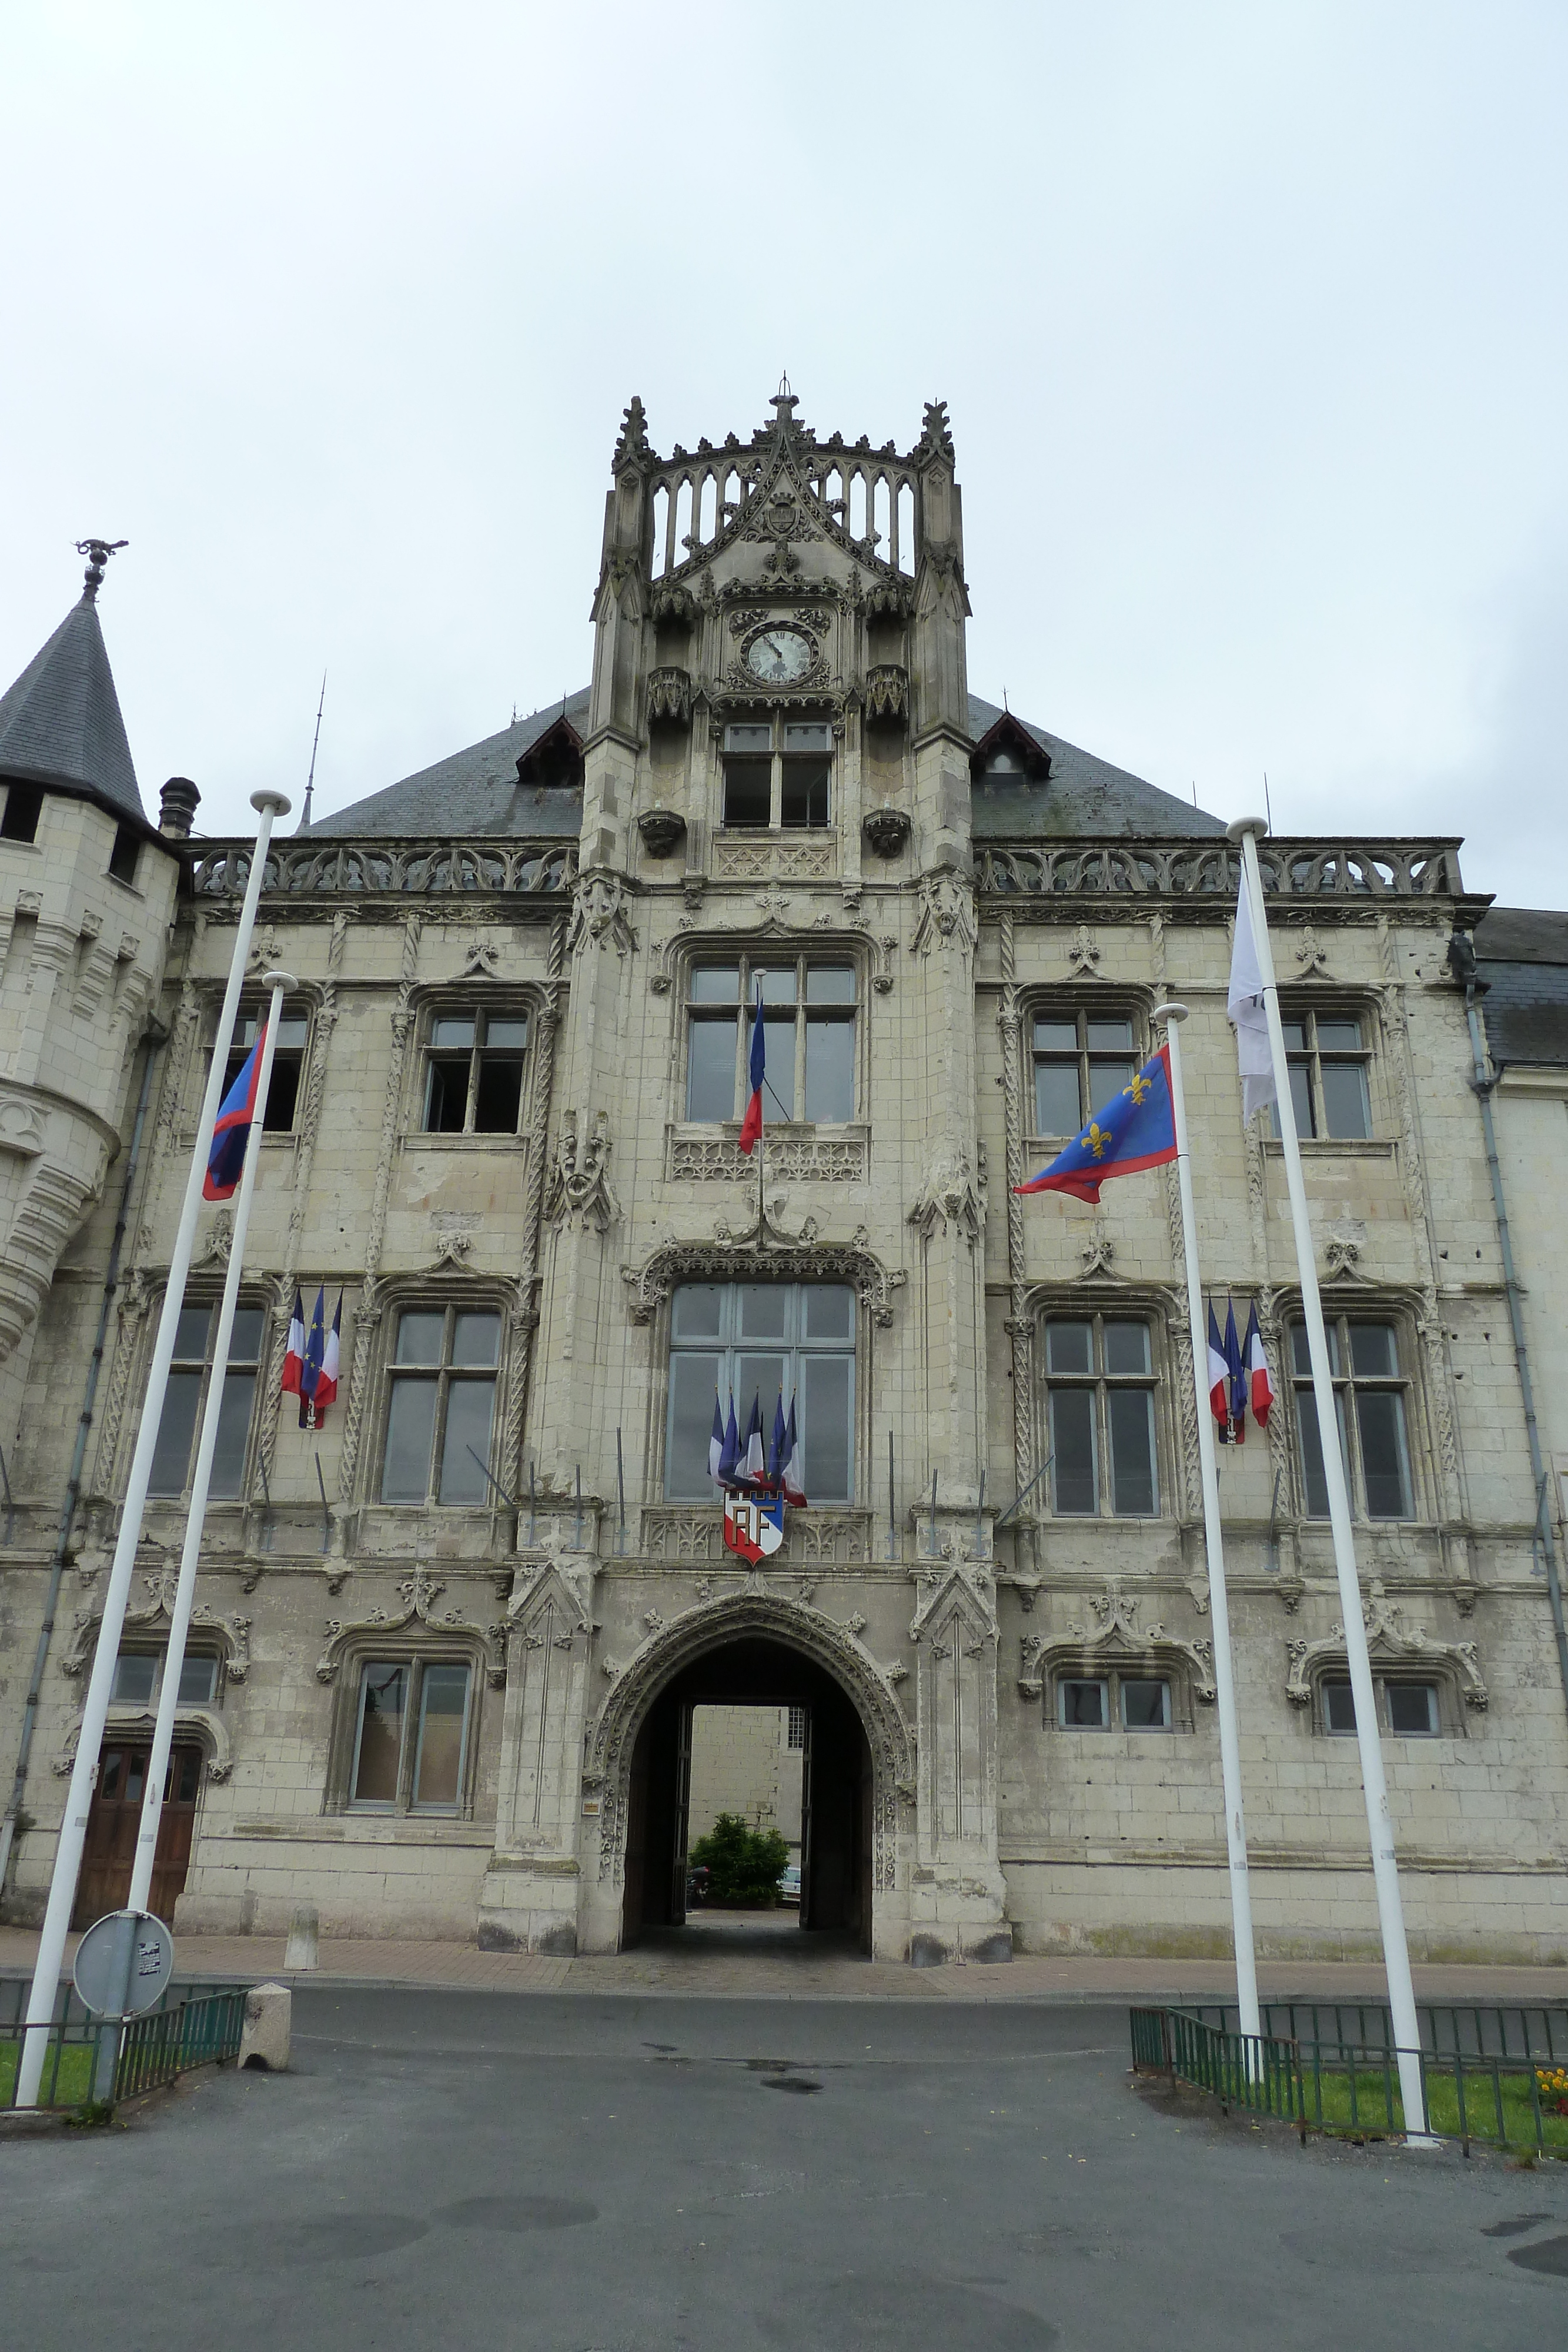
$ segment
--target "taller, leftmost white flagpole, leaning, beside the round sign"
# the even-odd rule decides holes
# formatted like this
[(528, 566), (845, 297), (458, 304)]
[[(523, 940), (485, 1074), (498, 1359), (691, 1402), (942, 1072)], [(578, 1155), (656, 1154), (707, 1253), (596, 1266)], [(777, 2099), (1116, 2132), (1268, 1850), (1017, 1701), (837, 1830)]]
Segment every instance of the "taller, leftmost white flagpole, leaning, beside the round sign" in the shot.
[(38, 2105), (38, 2086), (42, 2082), (45, 2056), (49, 2051), (49, 2020), (54, 2018), (54, 1994), (59, 1992), (59, 1971), (66, 1957), (71, 1907), (75, 1905), (75, 1882), (82, 1867), (92, 1790), (99, 1778), (99, 1748), (103, 1743), (103, 1722), (108, 1717), (108, 1693), (115, 1684), (115, 1661), (120, 1656), (120, 1630), (125, 1625), (125, 1604), (132, 1590), (132, 1569), (136, 1566), (136, 1545), (141, 1543), (141, 1519), (148, 1501), (148, 1479), (153, 1475), (153, 1449), (158, 1444), (158, 1423), (162, 1421), (162, 1399), (169, 1385), (169, 1364), (174, 1359), (174, 1334), (179, 1329), (179, 1310), (186, 1301), (186, 1275), (190, 1272), (190, 1251), (195, 1247), (195, 1218), (202, 1207), (207, 1152), (212, 1150), (212, 1129), (219, 1117), (219, 1103), (223, 1101), (223, 1068), (228, 1063), (228, 1044), (235, 1033), (235, 1014), (240, 1009), (240, 990), (244, 985), (244, 960), (256, 927), (256, 906), (261, 903), (261, 877), (266, 873), (268, 842), (277, 818), (289, 814), (289, 800), (284, 793), (252, 793), (252, 809), (256, 809), (261, 823), (256, 826), (256, 847), (252, 851), (249, 882), (240, 906), (240, 927), (235, 931), (235, 953), (228, 967), (228, 988), (223, 990), (223, 1009), (219, 1011), (219, 1030), (212, 1044), (212, 1070), (207, 1073), (207, 1094), (202, 1096), (202, 1115), (195, 1127), (186, 1200), (174, 1230), (174, 1249), (169, 1251), (169, 1279), (162, 1315), (158, 1319), (158, 1338), (153, 1341), (153, 1362), (148, 1367), (141, 1428), (136, 1430), (136, 1451), (132, 1454), (132, 1475), (125, 1484), (120, 1538), (115, 1543), (108, 1583), (103, 1585), (99, 1646), (87, 1679), (87, 1698), (82, 1700), (82, 1726), (75, 1740), (75, 1764), (71, 1769), (71, 1788), (66, 1792), (66, 1816), (54, 1849), (54, 1877), (49, 1879), (49, 1903), (45, 1910), (42, 1933), (38, 1938), (33, 1987), (28, 1992), (28, 2030), (21, 2044), (21, 2065), (16, 2070), (19, 2107)]

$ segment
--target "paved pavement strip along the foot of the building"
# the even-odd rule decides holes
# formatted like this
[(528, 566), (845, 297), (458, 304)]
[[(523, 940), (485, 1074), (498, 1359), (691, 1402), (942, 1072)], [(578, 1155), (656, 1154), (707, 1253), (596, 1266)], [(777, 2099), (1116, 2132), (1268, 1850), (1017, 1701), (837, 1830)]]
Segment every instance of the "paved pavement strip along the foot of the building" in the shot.
[[(26, 1976), (38, 1952), (31, 1929), (0, 1926), (0, 1976)], [(75, 1952), (75, 1936), (66, 1959)], [(282, 1936), (181, 1936), (181, 1983), (284, 1978)], [(480, 1952), (473, 1943), (390, 1936), (322, 1936), (317, 1983), (425, 1985), (489, 1992), (679, 1992), (710, 1999), (952, 1999), (1121, 2002), (1234, 1999), (1234, 1976), (1215, 1959), (1013, 1959), (999, 1969), (905, 1969), (867, 1962), (846, 1936), (804, 1936), (792, 1912), (698, 1912), (686, 1931), (649, 1933), (630, 1952), (538, 1959)], [(1382, 1999), (1373, 1962), (1265, 1962), (1265, 1999)], [(1568, 1969), (1415, 1969), (1425, 2002), (1568, 2002)]]

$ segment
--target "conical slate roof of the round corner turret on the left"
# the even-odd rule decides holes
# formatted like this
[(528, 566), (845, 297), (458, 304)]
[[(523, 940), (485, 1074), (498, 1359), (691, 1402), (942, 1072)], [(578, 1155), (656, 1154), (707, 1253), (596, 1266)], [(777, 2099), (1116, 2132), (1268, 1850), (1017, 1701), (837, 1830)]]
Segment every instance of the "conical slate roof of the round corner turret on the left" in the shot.
[(71, 607), (0, 696), (0, 776), (96, 800), (115, 816), (148, 823), (99, 607), (89, 597)]

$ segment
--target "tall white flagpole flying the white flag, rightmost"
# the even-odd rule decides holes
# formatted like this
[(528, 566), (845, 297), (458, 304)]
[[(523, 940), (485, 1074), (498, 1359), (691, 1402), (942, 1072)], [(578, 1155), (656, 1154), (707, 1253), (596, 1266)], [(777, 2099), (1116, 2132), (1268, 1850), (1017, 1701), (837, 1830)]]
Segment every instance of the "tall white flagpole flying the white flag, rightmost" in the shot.
[(1324, 1482), (1328, 1486), (1328, 1526), (1333, 1531), (1333, 1564), (1340, 1576), (1340, 1616), (1345, 1618), (1345, 1656), (1349, 1661), (1349, 1689), (1356, 1705), (1356, 1743), (1361, 1748), (1361, 1790), (1366, 1795), (1366, 1828), (1373, 1846), (1373, 1882), (1378, 1886), (1378, 1924), (1382, 1929), (1382, 1964), (1389, 1980), (1389, 2018), (1394, 2023), (1394, 2046), (1399, 2053), (1399, 2096), (1406, 2112), (1406, 2136), (1418, 2147), (1436, 2147), (1425, 2131), (1420, 2025), (1415, 2018), (1415, 1985), (1410, 1983), (1410, 1947), (1406, 1943), (1403, 1905), (1399, 1900), (1399, 1860), (1394, 1856), (1394, 1825), (1389, 1820), (1389, 1792), (1382, 1776), (1382, 1738), (1378, 1733), (1378, 1698), (1373, 1691), (1373, 1663), (1366, 1651), (1366, 1623), (1361, 1618), (1361, 1578), (1356, 1576), (1356, 1545), (1349, 1526), (1349, 1489), (1345, 1484), (1345, 1458), (1340, 1454), (1340, 1428), (1333, 1404), (1333, 1374), (1328, 1367), (1328, 1336), (1324, 1331), (1324, 1301), (1316, 1287), (1316, 1258), (1312, 1254), (1312, 1223), (1307, 1218), (1307, 1185), (1302, 1183), (1302, 1155), (1295, 1138), (1295, 1103), (1291, 1098), (1291, 1068), (1286, 1061), (1286, 1033), (1279, 1021), (1279, 988), (1274, 983), (1274, 946), (1269, 941), (1269, 917), (1262, 901), (1262, 870), (1258, 866), (1258, 840), (1269, 828), (1260, 816), (1239, 816), (1227, 828), (1232, 842), (1241, 844), (1241, 875), (1253, 913), (1253, 943), (1262, 976), (1262, 1007), (1269, 1023), (1269, 1054), (1274, 1058), (1274, 1117), (1286, 1160), (1286, 1185), (1291, 1188), (1291, 1223), (1295, 1228), (1295, 1265), (1302, 1287), (1302, 1317), (1307, 1324), (1307, 1352), (1312, 1357), (1312, 1392), (1316, 1399), (1319, 1444), (1324, 1449)]

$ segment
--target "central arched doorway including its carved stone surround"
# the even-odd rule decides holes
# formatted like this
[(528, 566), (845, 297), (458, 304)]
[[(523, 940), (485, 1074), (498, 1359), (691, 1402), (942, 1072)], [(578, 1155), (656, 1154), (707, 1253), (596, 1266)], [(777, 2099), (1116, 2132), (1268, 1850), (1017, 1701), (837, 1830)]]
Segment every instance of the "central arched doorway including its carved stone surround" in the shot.
[(583, 1757), (597, 1837), (581, 1860), (578, 1950), (614, 1952), (675, 1912), (682, 1722), (703, 1698), (759, 1698), (811, 1710), (816, 1889), (802, 1886), (802, 1924), (839, 1919), (877, 1959), (907, 1959), (914, 1731), (858, 1632), (755, 1578), (654, 1625), (611, 1670)]

